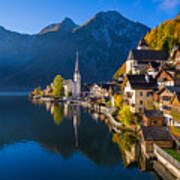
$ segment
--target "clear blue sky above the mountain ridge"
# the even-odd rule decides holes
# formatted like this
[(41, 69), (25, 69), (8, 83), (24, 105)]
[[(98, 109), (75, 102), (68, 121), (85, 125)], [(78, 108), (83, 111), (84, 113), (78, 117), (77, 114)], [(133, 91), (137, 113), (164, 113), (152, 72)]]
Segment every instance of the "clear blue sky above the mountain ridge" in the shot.
[(8, 30), (36, 34), (65, 17), (83, 24), (100, 11), (116, 10), (150, 28), (173, 19), (180, 0), (0, 0), (0, 25)]

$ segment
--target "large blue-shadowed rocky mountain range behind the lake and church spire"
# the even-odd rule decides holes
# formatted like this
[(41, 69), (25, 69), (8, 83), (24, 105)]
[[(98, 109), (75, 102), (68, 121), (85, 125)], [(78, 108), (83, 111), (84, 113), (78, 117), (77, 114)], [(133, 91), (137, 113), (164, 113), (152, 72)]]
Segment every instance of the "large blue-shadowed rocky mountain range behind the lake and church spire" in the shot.
[(100, 12), (80, 26), (65, 18), (35, 35), (2, 28), (0, 85), (44, 86), (56, 74), (72, 78), (77, 49), (83, 81), (109, 80), (149, 30), (116, 11)]

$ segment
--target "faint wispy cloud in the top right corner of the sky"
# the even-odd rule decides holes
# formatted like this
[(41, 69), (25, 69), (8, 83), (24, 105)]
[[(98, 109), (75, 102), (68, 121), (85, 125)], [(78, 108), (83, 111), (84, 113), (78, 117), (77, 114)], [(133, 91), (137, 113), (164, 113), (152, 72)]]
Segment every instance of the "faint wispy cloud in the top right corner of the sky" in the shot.
[(159, 8), (163, 10), (173, 10), (178, 5), (180, 5), (180, 0), (153, 0), (154, 2), (159, 2)]

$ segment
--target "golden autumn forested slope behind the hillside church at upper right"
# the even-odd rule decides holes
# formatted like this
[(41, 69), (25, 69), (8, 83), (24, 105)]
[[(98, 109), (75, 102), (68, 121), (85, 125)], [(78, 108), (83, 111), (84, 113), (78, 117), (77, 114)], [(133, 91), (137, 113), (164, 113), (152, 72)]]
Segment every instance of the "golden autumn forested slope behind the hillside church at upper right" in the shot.
[(152, 29), (145, 40), (151, 49), (170, 52), (174, 45), (180, 44), (180, 13), (176, 18), (164, 21)]

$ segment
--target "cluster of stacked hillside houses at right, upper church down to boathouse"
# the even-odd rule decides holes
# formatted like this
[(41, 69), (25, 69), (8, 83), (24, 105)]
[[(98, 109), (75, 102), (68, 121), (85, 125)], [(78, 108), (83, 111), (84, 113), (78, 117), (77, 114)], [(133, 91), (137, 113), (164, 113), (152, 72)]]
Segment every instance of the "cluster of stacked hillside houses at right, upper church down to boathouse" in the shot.
[[(141, 146), (152, 153), (153, 144), (172, 148), (170, 127), (180, 129), (180, 47), (173, 48), (170, 57), (163, 50), (150, 50), (144, 39), (137, 49), (130, 50), (123, 75), (123, 103), (130, 110), (143, 114)], [(151, 103), (153, 109), (147, 109)]]

